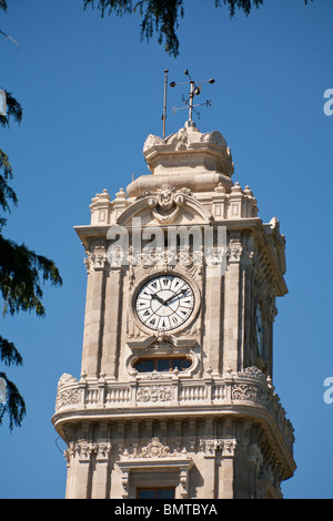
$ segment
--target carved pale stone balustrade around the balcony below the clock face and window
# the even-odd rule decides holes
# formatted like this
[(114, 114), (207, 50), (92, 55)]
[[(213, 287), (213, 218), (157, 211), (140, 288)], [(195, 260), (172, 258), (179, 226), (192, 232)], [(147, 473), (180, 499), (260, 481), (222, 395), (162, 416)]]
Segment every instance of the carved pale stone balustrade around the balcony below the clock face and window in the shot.
[(293, 427), (285, 417), (274, 387), (258, 368), (246, 368), (240, 372), (230, 372), (223, 377), (185, 379), (179, 374), (153, 374), (145, 378), (135, 377), (129, 382), (87, 378), (80, 381), (64, 374), (58, 385), (56, 415), (71, 410), (110, 409), (110, 417), (119, 410), (143, 408), (154, 409), (186, 406), (183, 411), (193, 409), (215, 411), (218, 407), (256, 408), (270, 412), (275, 420), (284, 442), (292, 450), (294, 442)]

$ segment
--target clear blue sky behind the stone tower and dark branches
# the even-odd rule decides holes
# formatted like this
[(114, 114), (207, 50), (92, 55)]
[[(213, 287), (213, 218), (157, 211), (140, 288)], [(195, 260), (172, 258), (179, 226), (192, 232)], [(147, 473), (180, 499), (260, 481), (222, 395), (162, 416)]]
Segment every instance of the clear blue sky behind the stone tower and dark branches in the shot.
[[(333, 88), (333, 2), (265, 0), (246, 18), (215, 10), (213, 0), (185, 2), (180, 57), (154, 38), (140, 42), (137, 16), (82, 10), (82, 0), (8, 0), (0, 28), (0, 86), (21, 102), (20, 126), (0, 129), (12, 163), (19, 206), (7, 236), (53, 258), (63, 287), (46, 287), (47, 317), (1, 321), (22, 368), (8, 370), (26, 398), (20, 429), (0, 428), (0, 497), (63, 498), (62, 440), (51, 425), (58, 379), (80, 376), (85, 298), (84, 252), (74, 225), (90, 223), (89, 204), (108, 188), (147, 173), (142, 147), (161, 135), (163, 70), (169, 81), (213, 76), (203, 91), (201, 132), (219, 130), (231, 146), (234, 182), (250, 185), (264, 222), (276, 216), (286, 236), (289, 295), (278, 300), (273, 381), (295, 428), (295, 476), (285, 498), (333, 498), (332, 164), (333, 116), (323, 112)], [(167, 134), (181, 90), (169, 90)], [(57, 448), (57, 443), (59, 448)]]

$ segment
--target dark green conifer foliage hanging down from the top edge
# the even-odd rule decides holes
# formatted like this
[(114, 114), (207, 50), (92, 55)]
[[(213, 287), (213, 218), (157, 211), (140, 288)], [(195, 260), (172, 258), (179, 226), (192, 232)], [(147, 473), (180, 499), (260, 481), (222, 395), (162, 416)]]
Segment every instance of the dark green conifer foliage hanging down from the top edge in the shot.
[[(125, 13), (139, 12), (142, 18), (141, 22), (141, 40), (149, 41), (154, 31), (159, 34), (159, 43), (161, 44), (165, 39), (165, 51), (173, 57), (179, 54), (179, 40), (176, 37), (176, 29), (179, 27), (179, 17), (184, 16), (185, 0), (83, 0), (83, 9), (88, 6), (94, 8), (95, 3), (100, 9), (102, 17), (104, 14), (115, 13), (122, 17)], [(191, 0), (189, 0), (191, 1)], [(279, 0), (278, 0), (279, 1)], [(305, 4), (309, 1), (304, 0)], [(226, 6), (230, 16), (234, 17), (236, 9), (243, 11), (246, 16), (250, 14), (252, 7), (259, 8), (263, 4), (264, 0), (214, 0), (215, 7), (220, 8)], [(204, 3), (203, 3), (204, 9)]]

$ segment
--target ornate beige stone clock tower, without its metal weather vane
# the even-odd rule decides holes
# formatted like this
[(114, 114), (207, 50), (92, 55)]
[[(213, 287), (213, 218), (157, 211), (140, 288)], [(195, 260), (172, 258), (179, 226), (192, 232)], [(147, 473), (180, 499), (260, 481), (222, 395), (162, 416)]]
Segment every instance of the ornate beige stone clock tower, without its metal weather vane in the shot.
[(285, 239), (232, 181), (218, 131), (149, 135), (150, 173), (104, 190), (85, 249), (81, 372), (52, 418), (67, 498), (281, 498), (293, 428), (273, 385)]

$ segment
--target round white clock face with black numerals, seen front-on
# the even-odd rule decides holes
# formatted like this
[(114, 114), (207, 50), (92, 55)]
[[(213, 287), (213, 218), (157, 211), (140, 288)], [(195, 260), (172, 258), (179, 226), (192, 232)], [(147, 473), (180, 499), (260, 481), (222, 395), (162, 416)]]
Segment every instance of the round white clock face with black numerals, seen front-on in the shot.
[(135, 308), (147, 327), (168, 331), (188, 321), (194, 309), (194, 294), (183, 278), (161, 275), (140, 289)]

